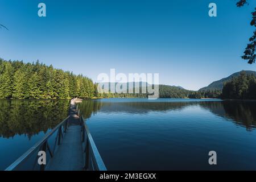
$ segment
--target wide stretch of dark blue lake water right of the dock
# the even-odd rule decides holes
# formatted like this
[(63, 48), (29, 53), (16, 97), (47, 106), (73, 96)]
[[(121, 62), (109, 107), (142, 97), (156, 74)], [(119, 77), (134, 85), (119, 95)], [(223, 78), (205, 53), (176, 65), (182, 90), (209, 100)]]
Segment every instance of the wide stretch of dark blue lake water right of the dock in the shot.
[(110, 170), (256, 169), (256, 102), (122, 98), (80, 108)]

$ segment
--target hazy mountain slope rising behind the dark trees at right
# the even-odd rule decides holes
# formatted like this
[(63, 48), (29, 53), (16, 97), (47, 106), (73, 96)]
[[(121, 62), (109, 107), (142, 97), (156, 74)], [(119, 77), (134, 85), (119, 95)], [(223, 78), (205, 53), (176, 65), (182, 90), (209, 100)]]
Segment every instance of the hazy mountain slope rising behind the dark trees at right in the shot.
[[(241, 71), (242, 72), (242, 71)], [(199, 91), (205, 90), (222, 90), (224, 82), (231, 81), (232, 77), (238, 77), (241, 72), (233, 73), (232, 75), (222, 78), (221, 80), (214, 81), (210, 85), (205, 86), (204, 88), (199, 89)], [(247, 75), (254, 74), (256, 76), (256, 72), (254, 71), (245, 71)]]

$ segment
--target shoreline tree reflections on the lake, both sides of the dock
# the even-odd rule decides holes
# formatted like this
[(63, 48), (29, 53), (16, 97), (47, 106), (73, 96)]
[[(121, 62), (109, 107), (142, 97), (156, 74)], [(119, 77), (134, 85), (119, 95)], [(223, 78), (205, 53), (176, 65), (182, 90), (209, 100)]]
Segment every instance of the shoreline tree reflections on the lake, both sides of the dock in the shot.
[[(124, 102), (122, 102), (122, 100)], [(230, 119), (236, 124), (246, 127), (248, 131), (256, 127), (256, 102), (254, 101), (193, 101), (169, 102), (158, 100), (147, 102), (129, 102), (120, 99), (112, 100), (84, 100), (79, 104), (84, 118), (90, 118), (98, 111), (104, 113), (145, 114), (151, 111), (166, 112), (182, 110), (185, 107), (197, 105), (208, 109), (213, 114)], [(167, 101), (167, 102), (164, 102)], [(26, 134), (30, 139), (40, 131), (55, 127), (68, 115), (69, 100), (0, 100), (0, 137), (10, 138), (14, 135)]]

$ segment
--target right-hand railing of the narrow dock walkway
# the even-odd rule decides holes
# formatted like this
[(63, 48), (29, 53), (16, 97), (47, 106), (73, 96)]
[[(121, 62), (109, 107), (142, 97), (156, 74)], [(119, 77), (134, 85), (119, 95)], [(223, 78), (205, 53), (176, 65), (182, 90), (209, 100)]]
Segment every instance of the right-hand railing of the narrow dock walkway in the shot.
[[(80, 111), (80, 110), (79, 110)], [(84, 169), (93, 171), (107, 171), (100, 153), (94, 143), (92, 135), (85, 123), (85, 119), (80, 115), (82, 125), (82, 150), (84, 155)]]

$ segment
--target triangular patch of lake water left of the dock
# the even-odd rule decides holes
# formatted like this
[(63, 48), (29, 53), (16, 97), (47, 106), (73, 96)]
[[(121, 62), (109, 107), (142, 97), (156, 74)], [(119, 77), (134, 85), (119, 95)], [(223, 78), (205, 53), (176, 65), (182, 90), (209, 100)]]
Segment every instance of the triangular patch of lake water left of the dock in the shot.
[(68, 115), (68, 100), (0, 100), (0, 170)]

